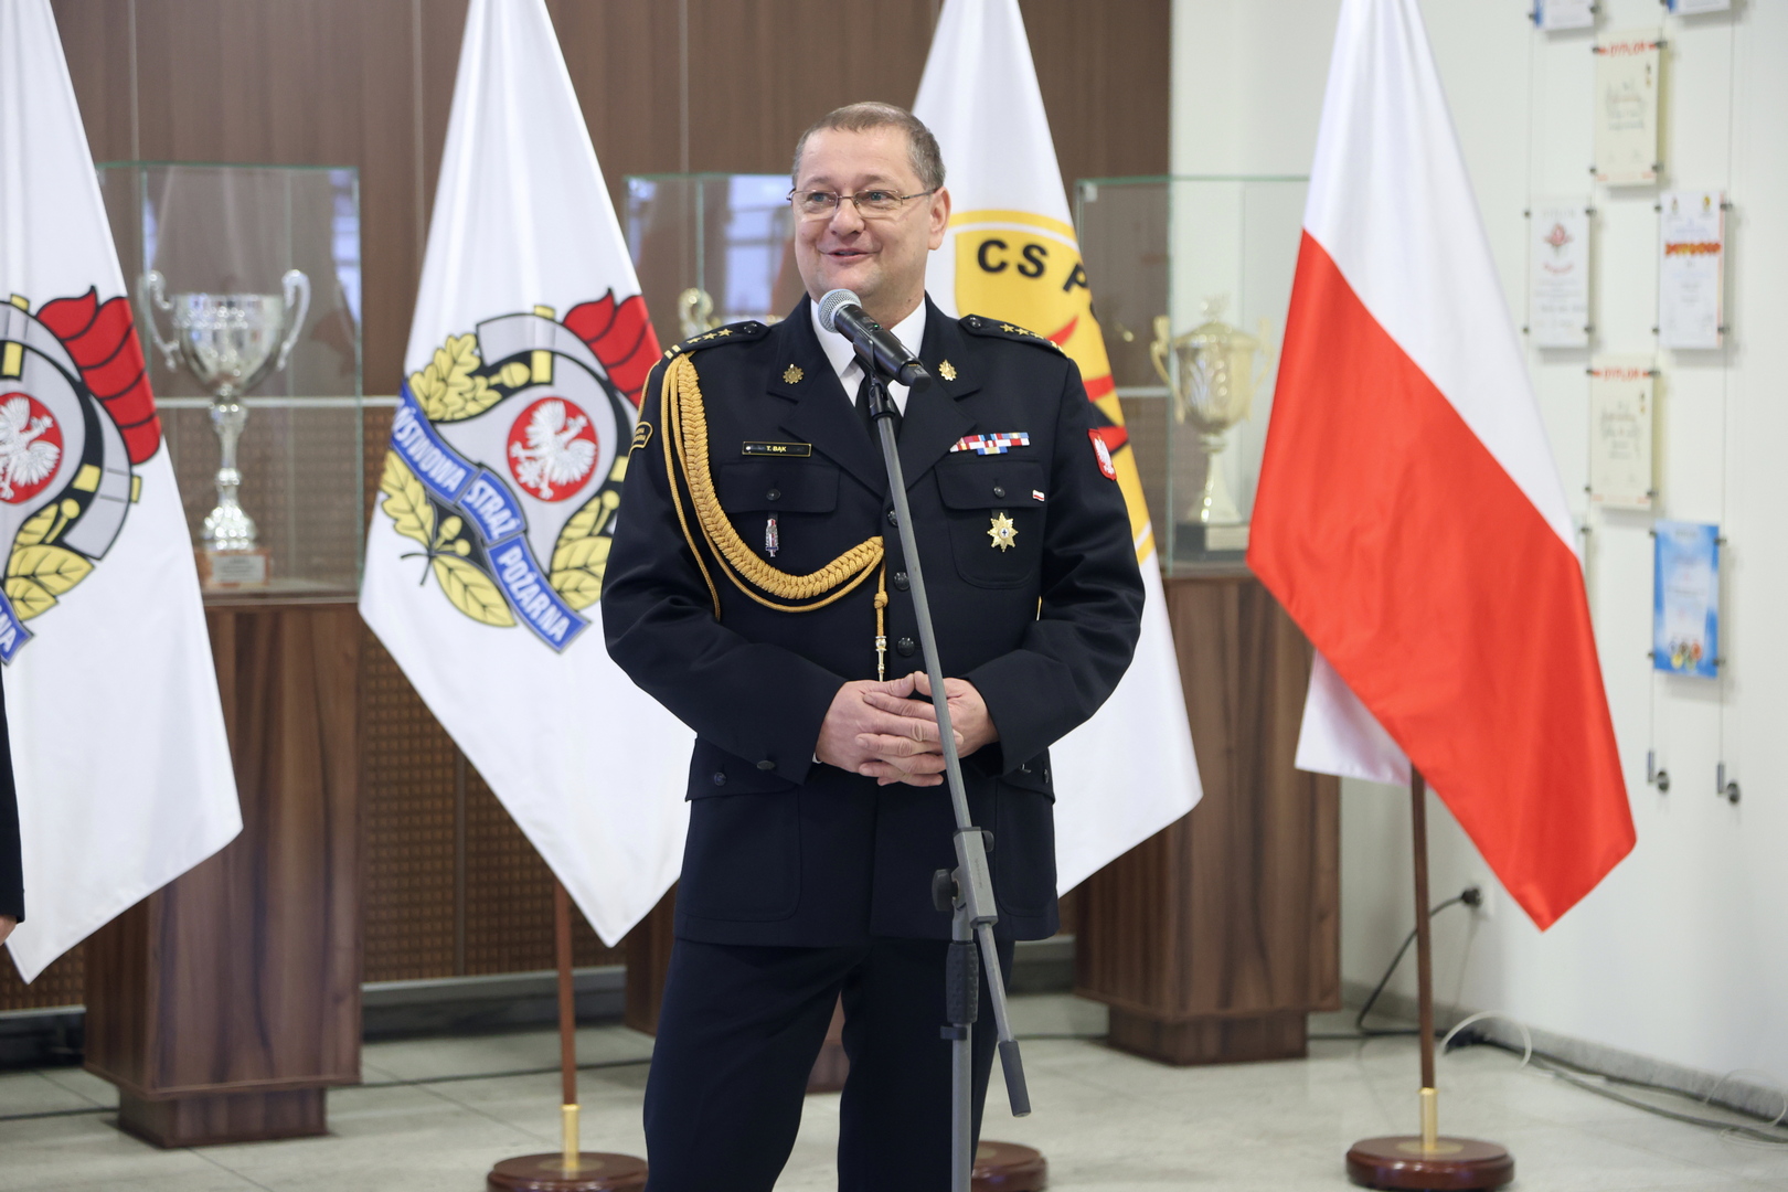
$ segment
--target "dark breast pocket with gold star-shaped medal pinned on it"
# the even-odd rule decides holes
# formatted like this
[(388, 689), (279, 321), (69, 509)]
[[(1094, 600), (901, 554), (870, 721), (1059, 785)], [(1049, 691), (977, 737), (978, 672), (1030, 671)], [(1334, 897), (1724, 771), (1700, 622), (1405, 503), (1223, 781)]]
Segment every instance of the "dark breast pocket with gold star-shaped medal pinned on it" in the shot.
[(1042, 465), (1010, 456), (958, 456), (937, 465), (957, 574), (982, 588), (1017, 588), (1042, 559)]

